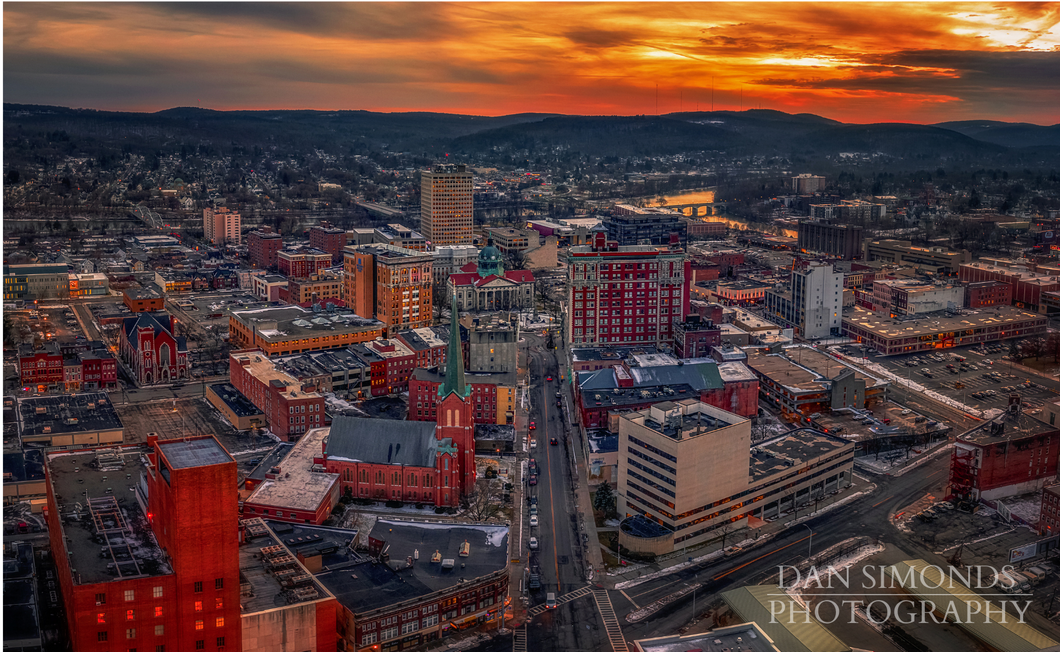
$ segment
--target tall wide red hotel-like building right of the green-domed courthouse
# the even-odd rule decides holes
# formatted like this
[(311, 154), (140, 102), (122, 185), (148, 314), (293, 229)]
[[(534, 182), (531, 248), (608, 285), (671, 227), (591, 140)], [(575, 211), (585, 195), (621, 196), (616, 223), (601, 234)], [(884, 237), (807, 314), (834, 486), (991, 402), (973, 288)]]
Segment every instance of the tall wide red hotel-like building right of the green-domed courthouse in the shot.
[(669, 345), (688, 314), (692, 278), (675, 239), (669, 247), (619, 246), (597, 232), (567, 251), (567, 333), (576, 346)]

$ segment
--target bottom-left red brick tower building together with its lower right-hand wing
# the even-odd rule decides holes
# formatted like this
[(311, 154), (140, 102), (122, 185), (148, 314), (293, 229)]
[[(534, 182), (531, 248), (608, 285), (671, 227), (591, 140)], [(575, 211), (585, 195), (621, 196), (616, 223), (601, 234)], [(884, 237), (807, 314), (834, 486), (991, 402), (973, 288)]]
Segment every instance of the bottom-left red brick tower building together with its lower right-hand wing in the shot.
[[(146, 445), (51, 455), (45, 472), (74, 652), (281, 649), (285, 635), (335, 651), (334, 596), (312, 578), (282, 592), (268, 575), (272, 547), (306, 571), (264, 527), (244, 534), (236, 462), (213, 437), (151, 434)], [(267, 543), (241, 545), (255, 536)], [(253, 597), (242, 595), (244, 575)]]

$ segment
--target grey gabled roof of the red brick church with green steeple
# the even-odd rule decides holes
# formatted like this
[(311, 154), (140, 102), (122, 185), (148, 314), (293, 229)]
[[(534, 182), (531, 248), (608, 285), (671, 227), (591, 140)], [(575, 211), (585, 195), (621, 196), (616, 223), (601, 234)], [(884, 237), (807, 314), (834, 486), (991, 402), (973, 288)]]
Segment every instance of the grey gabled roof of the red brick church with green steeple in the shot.
[(329, 458), (370, 464), (434, 469), (438, 455), (435, 424), (428, 421), (363, 419), (339, 415), (324, 444)]

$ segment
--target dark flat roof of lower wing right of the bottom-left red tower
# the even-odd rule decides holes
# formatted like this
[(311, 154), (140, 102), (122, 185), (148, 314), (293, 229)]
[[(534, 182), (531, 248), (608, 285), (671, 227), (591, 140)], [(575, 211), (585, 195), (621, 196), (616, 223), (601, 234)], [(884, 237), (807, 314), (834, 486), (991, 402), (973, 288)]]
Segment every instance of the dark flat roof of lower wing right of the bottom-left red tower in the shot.
[(285, 545), (261, 518), (246, 518), (241, 525), (246, 538), (240, 546), (240, 606), (244, 615), (330, 597), (298, 561), (300, 551), (314, 550)]

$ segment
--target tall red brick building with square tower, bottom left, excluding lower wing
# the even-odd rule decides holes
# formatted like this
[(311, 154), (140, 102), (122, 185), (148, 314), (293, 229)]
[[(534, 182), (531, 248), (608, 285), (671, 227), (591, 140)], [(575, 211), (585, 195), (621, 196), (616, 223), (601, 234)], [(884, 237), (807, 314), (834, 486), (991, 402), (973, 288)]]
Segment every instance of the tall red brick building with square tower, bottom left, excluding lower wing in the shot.
[[(48, 531), (72, 648), (240, 650), (235, 460), (213, 437), (148, 436), (145, 452), (146, 462), (140, 447), (46, 462)], [(120, 494), (75, 490), (78, 479), (107, 482), (107, 474)], [(88, 528), (68, 521), (74, 496)]]

